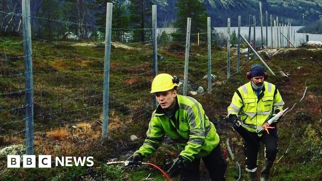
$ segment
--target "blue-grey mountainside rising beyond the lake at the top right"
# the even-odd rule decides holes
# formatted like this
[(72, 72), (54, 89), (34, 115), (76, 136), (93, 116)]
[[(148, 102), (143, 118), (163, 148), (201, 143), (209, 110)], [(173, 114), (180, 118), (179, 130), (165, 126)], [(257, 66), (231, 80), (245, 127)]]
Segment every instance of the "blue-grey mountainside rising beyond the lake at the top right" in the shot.
[[(178, 0), (155, 0), (158, 5), (158, 23), (168, 26), (176, 18), (175, 3)], [(206, 13), (212, 17), (212, 26), (227, 26), (227, 18), (231, 18), (231, 26), (237, 26), (238, 16), (242, 16), (242, 26), (249, 24), (249, 15), (255, 15), (257, 21), (260, 18), (259, 2), (262, 3), (263, 24), (266, 24), (268, 11), (268, 24), (270, 25), (270, 14), (273, 19), (279, 17), (279, 23), (302, 26), (309, 22), (315, 22), (322, 17), (322, 1), (307, 0), (204, 0)], [(303, 18), (304, 14), (304, 18)], [(304, 22), (303, 22), (304, 19)], [(166, 23), (165, 23), (166, 22)], [(260, 24), (258, 24), (260, 25)]]

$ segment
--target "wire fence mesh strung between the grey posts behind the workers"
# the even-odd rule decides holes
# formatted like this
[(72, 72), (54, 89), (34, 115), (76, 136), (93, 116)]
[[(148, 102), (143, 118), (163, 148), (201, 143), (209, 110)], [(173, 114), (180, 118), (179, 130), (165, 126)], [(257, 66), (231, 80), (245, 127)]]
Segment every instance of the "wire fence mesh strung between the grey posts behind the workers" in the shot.
[[(0, 13), (22, 17), (20, 13)], [(27, 139), (33, 139), (36, 155), (58, 154), (70, 147), (88, 149), (101, 135), (105, 43), (97, 37), (80, 41), (78, 35), (86, 34), (90, 28), (105, 27), (40, 16), (31, 18), (37, 24), (64, 26), (78, 34), (62, 36), (55, 28), (43, 29), (39, 35), (34, 32), (36, 36), (31, 39), (34, 137)], [(175, 30), (157, 28), (157, 43), (163, 47), (158, 50), (158, 72), (177, 75), (183, 82), (186, 42), (171, 38), (169, 34)], [(47, 36), (45, 34), (51, 32), (45, 31), (56, 32), (57, 37)], [(108, 127), (111, 135), (136, 121), (148, 120), (154, 100), (149, 93), (153, 79), (152, 28), (112, 28), (112, 32), (112, 41), (119, 42), (111, 44)], [(214, 32), (212, 35), (211, 43), (224, 41)], [(194, 41), (189, 42), (188, 89), (196, 91), (200, 86), (208, 86), (204, 78), (208, 73), (208, 42), (205, 32), (191, 36)], [(71, 37), (74, 39), (70, 40)], [(27, 141), (24, 124), (30, 118), (25, 116), (28, 105), (24, 99), (24, 75), (30, 72), (24, 71), (24, 41), (20, 37), (2, 37), (4, 49), (0, 51), (0, 137), (6, 143), (21, 145)], [(212, 65), (213, 72), (225, 75), (225, 59), (213, 59)], [(232, 71), (232, 75), (234, 73), (237, 72)], [(219, 81), (227, 81), (226, 76), (221, 75)], [(212, 89), (220, 85), (213, 83)], [(65, 153), (69, 149), (66, 150)]]

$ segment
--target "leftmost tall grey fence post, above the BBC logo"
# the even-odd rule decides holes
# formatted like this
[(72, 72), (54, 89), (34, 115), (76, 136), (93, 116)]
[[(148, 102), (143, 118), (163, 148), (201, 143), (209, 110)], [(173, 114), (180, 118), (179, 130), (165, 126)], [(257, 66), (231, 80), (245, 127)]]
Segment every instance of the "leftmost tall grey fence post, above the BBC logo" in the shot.
[(31, 47), (30, 0), (22, 0), (24, 34), (24, 78), (26, 96), (26, 154), (33, 155), (33, 58)]

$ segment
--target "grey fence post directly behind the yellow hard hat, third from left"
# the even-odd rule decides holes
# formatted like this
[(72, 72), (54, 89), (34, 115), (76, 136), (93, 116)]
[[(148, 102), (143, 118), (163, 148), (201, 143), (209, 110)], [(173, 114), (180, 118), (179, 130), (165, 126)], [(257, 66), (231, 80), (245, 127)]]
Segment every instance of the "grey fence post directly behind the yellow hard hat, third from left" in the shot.
[[(156, 5), (152, 5), (152, 49), (153, 49), (153, 77), (158, 74), (158, 49), (157, 49), (157, 32), (156, 32), (157, 24), (156, 24)], [(153, 104), (156, 108), (158, 102), (156, 101), (156, 97), (153, 96)]]

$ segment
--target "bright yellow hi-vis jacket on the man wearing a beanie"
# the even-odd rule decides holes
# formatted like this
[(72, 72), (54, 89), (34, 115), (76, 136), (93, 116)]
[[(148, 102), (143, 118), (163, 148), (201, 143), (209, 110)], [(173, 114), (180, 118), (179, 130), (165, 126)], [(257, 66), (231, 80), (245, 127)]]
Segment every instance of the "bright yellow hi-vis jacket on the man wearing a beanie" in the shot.
[(284, 101), (275, 85), (264, 81), (264, 87), (258, 97), (250, 81), (234, 93), (232, 103), (228, 107), (228, 117), (240, 116), (242, 126), (256, 132), (272, 114), (282, 111), (283, 106)]

